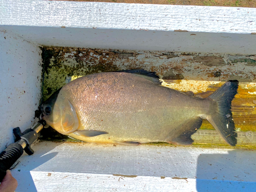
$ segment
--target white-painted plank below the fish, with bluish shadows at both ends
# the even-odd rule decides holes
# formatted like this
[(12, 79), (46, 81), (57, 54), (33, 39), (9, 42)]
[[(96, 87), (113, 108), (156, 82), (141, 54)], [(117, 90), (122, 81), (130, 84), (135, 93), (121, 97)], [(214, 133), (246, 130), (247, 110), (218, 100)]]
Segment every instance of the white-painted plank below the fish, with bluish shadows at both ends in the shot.
[(54, 142), (34, 149), (12, 171), (17, 192), (256, 189), (255, 151)]

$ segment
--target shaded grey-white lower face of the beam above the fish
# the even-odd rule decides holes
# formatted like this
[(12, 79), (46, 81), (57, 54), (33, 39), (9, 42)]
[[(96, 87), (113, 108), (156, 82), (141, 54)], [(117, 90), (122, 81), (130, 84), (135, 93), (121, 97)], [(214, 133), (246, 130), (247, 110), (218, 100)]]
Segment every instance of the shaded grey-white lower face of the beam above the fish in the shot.
[(250, 34), (27, 26), (0, 26), (1, 30), (42, 46), (246, 55), (256, 52), (256, 35)]

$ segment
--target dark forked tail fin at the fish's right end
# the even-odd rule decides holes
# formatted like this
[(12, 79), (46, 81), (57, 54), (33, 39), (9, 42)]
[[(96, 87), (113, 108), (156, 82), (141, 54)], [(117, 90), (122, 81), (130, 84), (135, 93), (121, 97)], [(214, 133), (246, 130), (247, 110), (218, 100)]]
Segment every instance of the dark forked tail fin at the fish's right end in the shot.
[(207, 120), (215, 127), (217, 132), (230, 145), (237, 144), (237, 133), (234, 132), (234, 122), (231, 113), (231, 101), (237, 94), (238, 81), (227, 81), (216, 92), (212, 93), (209, 98), (217, 101), (218, 109), (216, 113), (207, 117)]

